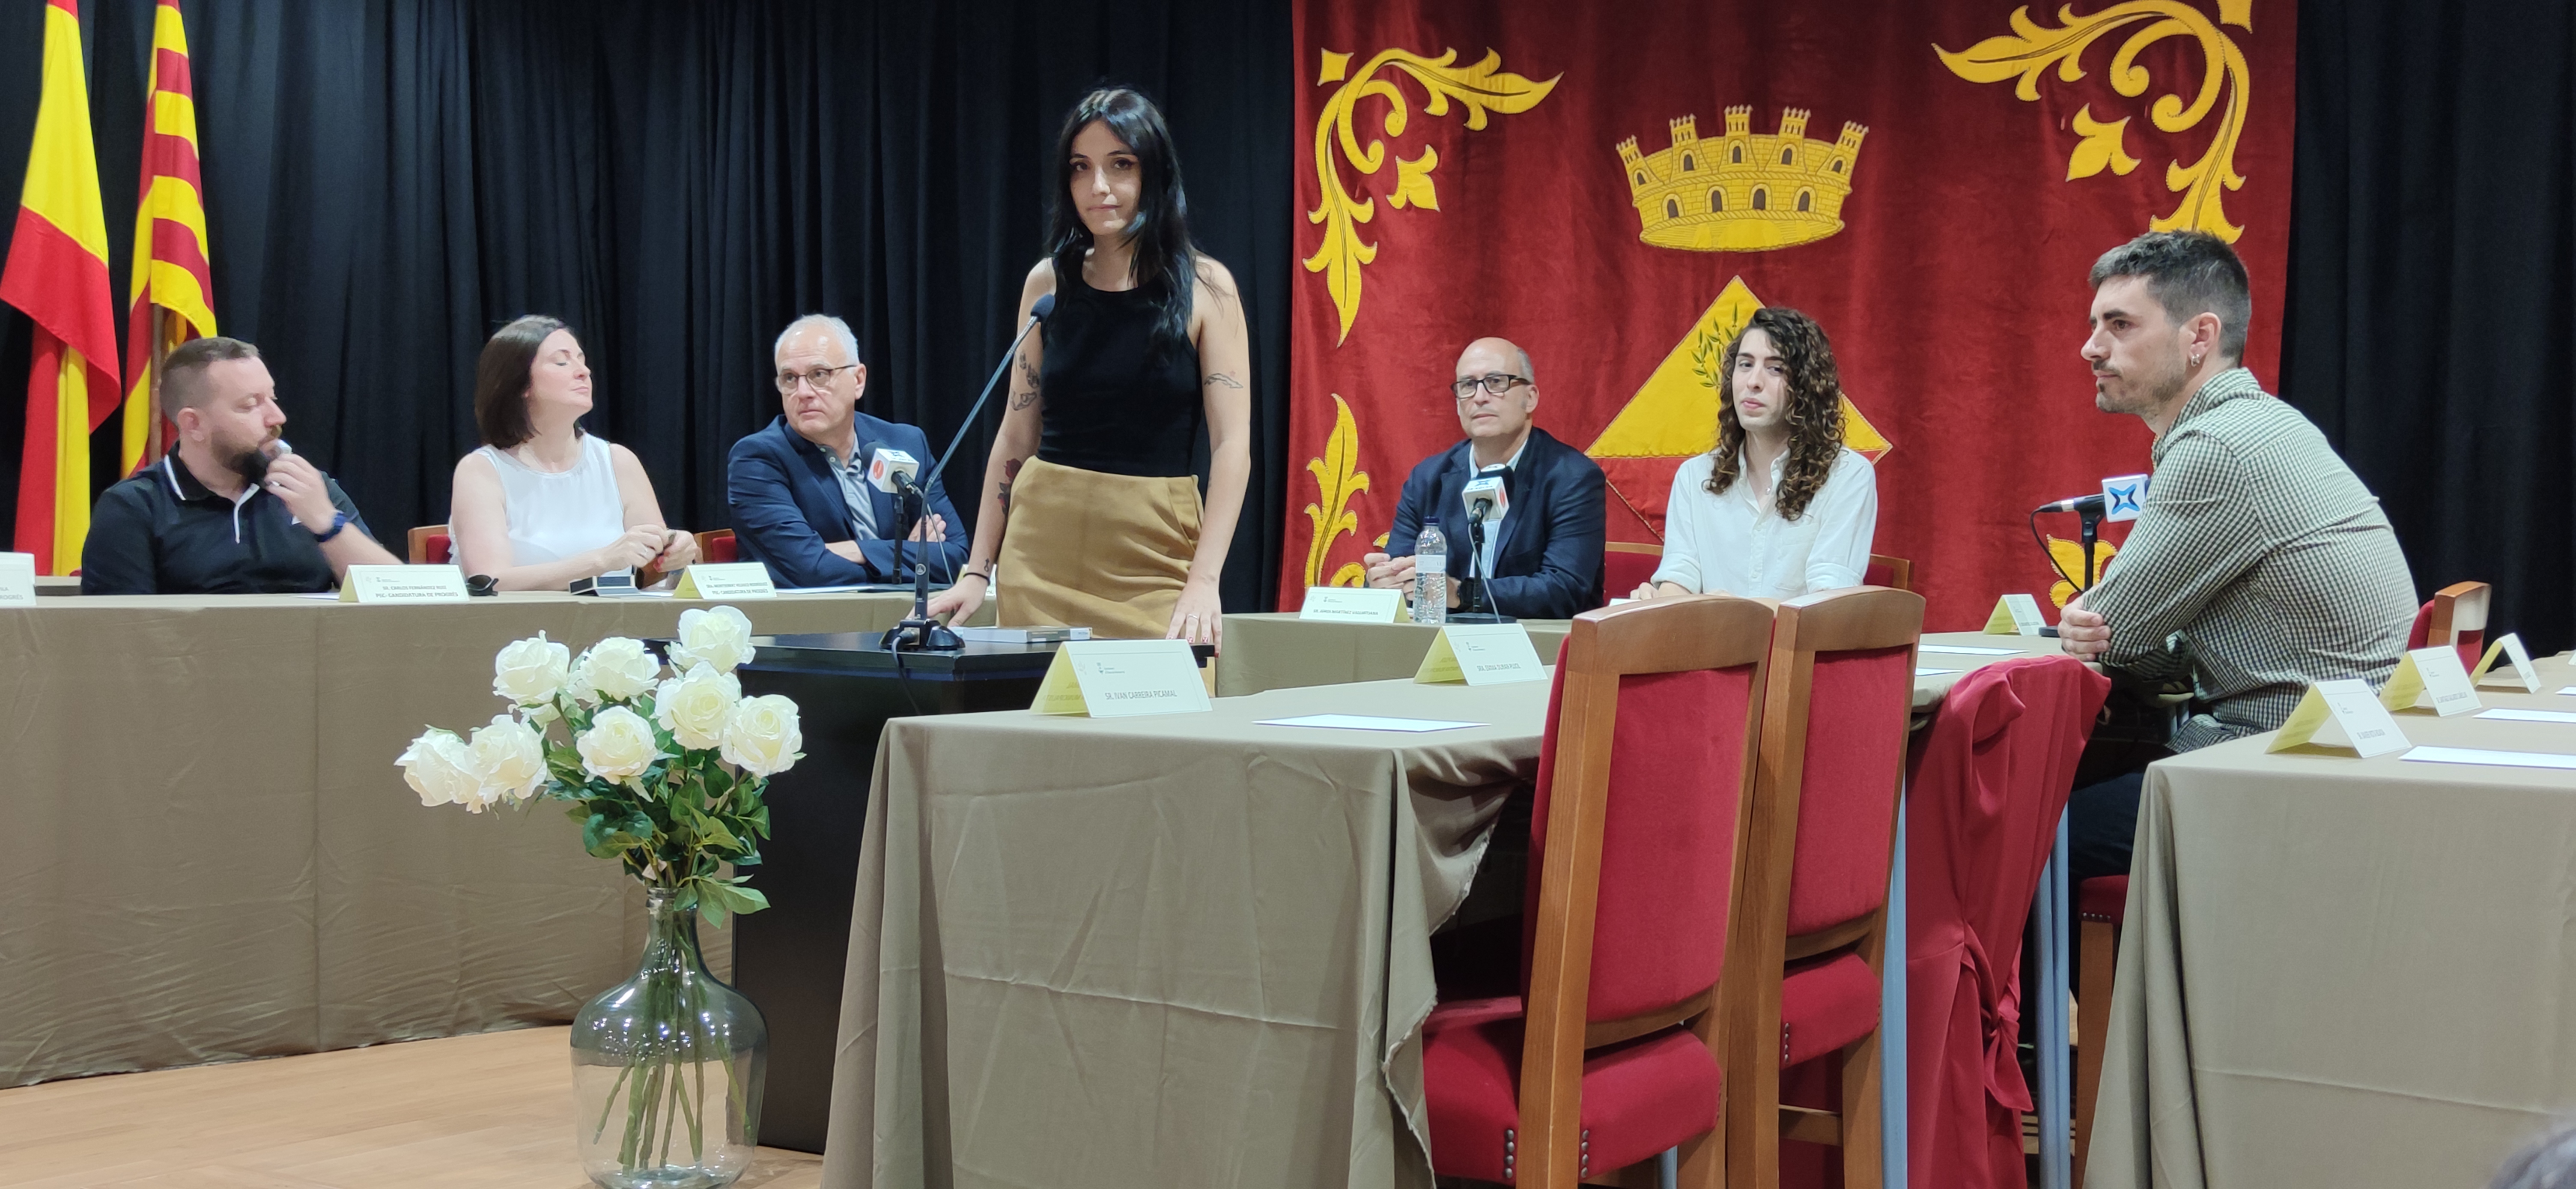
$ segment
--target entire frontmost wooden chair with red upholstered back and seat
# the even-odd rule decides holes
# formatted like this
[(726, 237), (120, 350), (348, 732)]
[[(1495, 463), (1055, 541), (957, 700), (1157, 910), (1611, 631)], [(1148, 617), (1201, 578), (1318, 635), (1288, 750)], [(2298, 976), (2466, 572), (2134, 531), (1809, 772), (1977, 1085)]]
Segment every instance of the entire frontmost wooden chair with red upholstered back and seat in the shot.
[(1530, 815), (1525, 996), (1422, 1027), (1437, 1174), (1574, 1189), (1680, 1145), (1680, 1184), (1723, 1181), (1718, 975), (1770, 624), (1747, 598), (1574, 619)]

